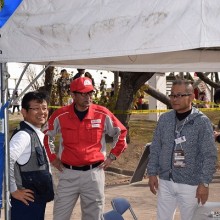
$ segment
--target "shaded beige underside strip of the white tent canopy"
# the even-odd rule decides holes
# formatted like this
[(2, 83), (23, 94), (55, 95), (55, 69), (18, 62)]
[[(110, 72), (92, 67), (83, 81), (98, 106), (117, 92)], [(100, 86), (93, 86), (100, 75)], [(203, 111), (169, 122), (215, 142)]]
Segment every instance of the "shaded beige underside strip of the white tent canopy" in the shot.
[[(46, 63), (45, 63), (46, 65)], [(220, 54), (212, 50), (186, 50), (178, 52), (143, 54), (52, 62), (55, 66), (77, 66), (82, 69), (141, 72), (219, 72)]]

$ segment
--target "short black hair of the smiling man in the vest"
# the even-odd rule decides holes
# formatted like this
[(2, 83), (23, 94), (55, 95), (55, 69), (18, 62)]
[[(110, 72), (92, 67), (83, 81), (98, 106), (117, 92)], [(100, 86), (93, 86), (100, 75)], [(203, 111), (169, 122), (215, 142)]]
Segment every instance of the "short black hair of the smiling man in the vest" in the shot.
[(21, 107), (28, 111), (30, 108), (29, 103), (32, 100), (36, 100), (38, 103), (42, 103), (43, 101), (46, 101), (48, 103), (48, 96), (44, 92), (39, 92), (39, 91), (28, 92), (24, 95), (21, 101)]

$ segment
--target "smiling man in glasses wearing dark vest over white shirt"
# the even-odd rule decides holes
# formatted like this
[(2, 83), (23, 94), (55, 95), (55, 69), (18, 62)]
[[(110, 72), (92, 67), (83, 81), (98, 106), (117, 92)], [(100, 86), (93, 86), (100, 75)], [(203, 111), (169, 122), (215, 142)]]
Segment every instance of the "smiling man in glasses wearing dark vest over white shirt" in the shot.
[(24, 121), (9, 143), (11, 219), (43, 220), (46, 203), (54, 198), (41, 132), (48, 118), (46, 95), (37, 91), (25, 94), (21, 113)]

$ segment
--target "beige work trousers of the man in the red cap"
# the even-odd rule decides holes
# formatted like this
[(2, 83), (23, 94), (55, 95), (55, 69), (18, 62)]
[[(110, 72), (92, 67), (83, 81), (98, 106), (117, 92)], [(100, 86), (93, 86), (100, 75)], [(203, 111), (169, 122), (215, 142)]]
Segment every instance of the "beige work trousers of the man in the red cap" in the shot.
[(88, 171), (64, 168), (59, 174), (53, 219), (70, 220), (73, 208), (80, 197), (82, 220), (102, 220), (104, 184), (104, 170), (98, 167)]

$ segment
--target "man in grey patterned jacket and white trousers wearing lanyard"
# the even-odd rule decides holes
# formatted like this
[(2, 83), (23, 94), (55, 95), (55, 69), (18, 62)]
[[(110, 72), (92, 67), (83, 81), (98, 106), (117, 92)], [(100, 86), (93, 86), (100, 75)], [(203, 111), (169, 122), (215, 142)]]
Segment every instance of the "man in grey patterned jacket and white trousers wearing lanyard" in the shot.
[[(192, 107), (193, 87), (173, 83), (173, 110), (160, 116), (147, 166), (150, 190), (157, 194), (157, 219), (172, 220), (177, 206), (182, 220), (191, 220), (199, 203), (208, 199), (217, 160), (210, 120)], [(159, 180), (158, 177), (159, 176)]]

